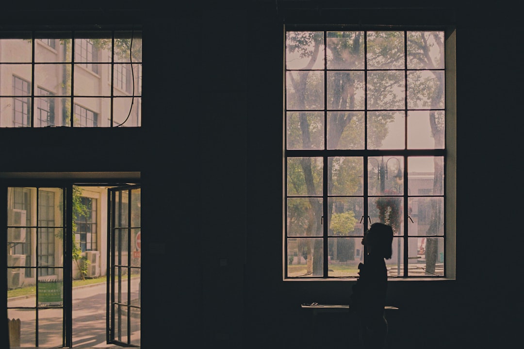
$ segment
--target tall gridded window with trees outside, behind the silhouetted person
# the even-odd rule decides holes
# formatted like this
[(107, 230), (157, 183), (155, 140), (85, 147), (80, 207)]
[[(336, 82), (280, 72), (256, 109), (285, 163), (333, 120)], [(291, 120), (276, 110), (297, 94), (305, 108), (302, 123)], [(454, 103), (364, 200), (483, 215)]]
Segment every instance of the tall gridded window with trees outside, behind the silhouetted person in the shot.
[(444, 30), (286, 31), (285, 278), (358, 277), (370, 224), (389, 277), (444, 277)]

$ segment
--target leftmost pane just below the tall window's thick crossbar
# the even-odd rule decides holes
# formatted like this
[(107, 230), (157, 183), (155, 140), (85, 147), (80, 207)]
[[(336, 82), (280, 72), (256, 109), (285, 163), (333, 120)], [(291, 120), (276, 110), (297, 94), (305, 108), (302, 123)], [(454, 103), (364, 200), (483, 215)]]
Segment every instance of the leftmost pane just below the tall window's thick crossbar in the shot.
[(322, 158), (288, 158), (288, 195), (322, 195)]

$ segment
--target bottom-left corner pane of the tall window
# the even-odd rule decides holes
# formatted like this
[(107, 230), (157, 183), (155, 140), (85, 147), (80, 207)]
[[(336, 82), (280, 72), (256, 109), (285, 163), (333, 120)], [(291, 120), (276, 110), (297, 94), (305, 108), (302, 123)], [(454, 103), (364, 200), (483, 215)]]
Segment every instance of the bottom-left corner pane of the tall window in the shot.
[(322, 238), (289, 238), (287, 277), (322, 276), (323, 250)]

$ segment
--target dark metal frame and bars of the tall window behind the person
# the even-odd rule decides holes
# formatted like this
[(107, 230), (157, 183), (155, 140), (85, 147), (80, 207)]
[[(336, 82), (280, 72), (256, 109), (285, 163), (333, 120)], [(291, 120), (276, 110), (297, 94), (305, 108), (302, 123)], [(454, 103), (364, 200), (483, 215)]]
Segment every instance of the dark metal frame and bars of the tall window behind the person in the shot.
[[(455, 202), (456, 202), (456, 83), (455, 83), (455, 75), (456, 75), (456, 63), (455, 63), (455, 28), (454, 26), (450, 25), (437, 25), (437, 26), (409, 26), (409, 25), (398, 25), (398, 26), (387, 26), (387, 29), (384, 28), (384, 26), (333, 26), (333, 25), (299, 25), (299, 24), (285, 24), (284, 30), (283, 30), (283, 137), (282, 137), (282, 146), (283, 146), (283, 195), (282, 195), (282, 211), (283, 211), (283, 222), (282, 222), (282, 278), (283, 280), (291, 280), (291, 281), (297, 281), (297, 280), (340, 280), (340, 279), (354, 279), (356, 276), (351, 277), (336, 277), (336, 276), (328, 276), (328, 254), (329, 252), (329, 242), (328, 242), (328, 227), (324, 227), (323, 224), (322, 230), (323, 235), (319, 236), (323, 239), (323, 275), (322, 276), (310, 276), (310, 277), (290, 277), (288, 276), (288, 237), (287, 234), (287, 199), (289, 198), (288, 192), (287, 192), (287, 159), (289, 157), (294, 156), (312, 156), (310, 154), (314, 154), (315, 150), (288, 150), (287, 149), (287, 91), (286, 91), (286, 79), (287, 79), (287, 72), (288, 69), (286, 67), (286, 34), (288, 31), (323, 31), (324, 37), (325, 32), (327, 31), (351, 31), (351, 30), (365, 30), (365, 31), (372, 31), (372, 30), (391, 30), (391, 31), (443, 31), (444, 32), (444, 77), (445, 77), (445, 105), (444, 105), (444, 112), (445, 112), (445, 140), (444, 140), (444, 147), (443, 149), (423, 149), (423, 150), (417, 150), (417, 149), (408, 149), (406, 146), (403, 150), (352, 150), (350, 152), (344, 151), (344, 150), (327, 150), (324, 146), (324, 154), (330, 154), (325, 155), (323, 163), (324, 163), (324, 174), (329, 169), (327, 168), (327, 161), (326, 159), (329, 156), (342, 156), (342, 154), (352, 154), (351, 156), (362, 156), (364, 159), (364, 172), (367, 173), (367, 161), (365, 159), (367, 157), (377, 157), (377, 156), (393, 156), (398, 155), (399, 153), (405, 154), (403, 156), (398, 156), (399, 158), (403, 159), (403, 171), (405, 173), (403, 176), (403, 184), (405, 188), (405, 192), (402, 195), (403, 201), (405, 203), (408, 202), (410, 196), (407, 193), (407, 172), (406, 172), (406, 163), (408, 156), (423, 156), (423, 155), (435, 155), (435, 156), (442, 156), (444, 159), (444, 165), (443, 165), (443, 195), (444, 198), (444, 271), (442, 276), (413, 276), (408, 275), (408, 257), (403, 257), (403, 263), (404, 271), (402, 272), (402, 275), (395, 276), (390, 279), (396, 279), (396, 280), (421, 280), (421, 279), (429, 279), (429, 280), (442, 280), (442, 279), (455, 279), (455, 259), (456, 259), (456, 208), (455, 208)], [(325, 45), (325, 43), (324, 43)], [(324, 46), (325, 48), (325, 46)], [(324, 56), (325, 59), (325, 56)], [(406, 69), (406, 67), (404, 68)], [(367, 70), (367, 69), (365, 69)], [(321, 71), (328, 71), (325, 66), (324, 62), (324, 68)], [(326, 82), (324, 81), (324, 88), (325, 88)], [(407, 90), (406, 90), (407, 94)], [(324, 97), (325, 98), (325, 97)], [(407, 98), (407, 97), (406, 97)], [(406, 102), (406, 99), (405, 99)], [(367, 106), (365, 106), (366, 108)], [(324, 113), (326, 113), (328, 110), (328, 105), (324, 104)], [(408, 107), (407, 104), (405, 104), (405, 110), (407, 116)], [(316, 111), (316, 110), (315, 110)], [(367, 112), (367, 110), (366, 110)], [(324, 115), (325, 118), (325, 115)], [(324, 127), (326, 127), (324, 125)], [(406, 141), (406, 140), (405, 140)], [(326, 140), (324, 140), (324, 145), (326, 145)], [(327, 151), (326, 151), (327, 150)], [(408, 155), (409, 154), (409, 155)], [(400, 165), (400, 164), (399, 164)], [(365, 177), (365, 176), (364, 176)], [(324, 182), (326, 182), (327, 179), (324, 177)], [(323, 217), (327, 216), (327, 207), (328, 207), (328, 198), (330, 195), (326, 193), (327, 191), (327, 184), (323, 185), (323, 194), (322, 198), (324, 199), (323, 204)], [(364, 201), (367, 201), (369, 195), (366, 190), (364, 190), (363, 193), (363, 199)], [(406, 206), (407, 207), (407, 206)], [(405, 210), (407, 211), (407, 210)], [(360, 219), (360, 217), (358, 217)], [(406, 222), (408, 219), (408, 213), (404, 213), (404, 219), (403, 222)], [(368, 220), (364, 222), (364, 226), (368, 227)], [(365, 231), (365, 230), (364, 230)], [(408, 249), (408, 227), (403, 227), (403, 233), (400, 235), (399, 238), (405, 239), (404, 242), (404, 250), (407, 251)], [(291, 238), (294, 238), (295, 236), (292, 236)], [(396, 237), (397, 238), (397, 237)], [(358, 240), (359, 241), (359, 240)], [(300, 252), (299, 252), (300, 253)]]

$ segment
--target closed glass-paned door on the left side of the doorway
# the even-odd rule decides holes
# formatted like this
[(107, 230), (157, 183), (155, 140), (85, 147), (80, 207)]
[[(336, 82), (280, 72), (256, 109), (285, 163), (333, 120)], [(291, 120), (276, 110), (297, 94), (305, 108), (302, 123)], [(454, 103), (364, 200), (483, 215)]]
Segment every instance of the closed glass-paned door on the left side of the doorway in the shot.
[(7, 188), (10, 347), (70, 344), (66, 192), (65, 187)]

